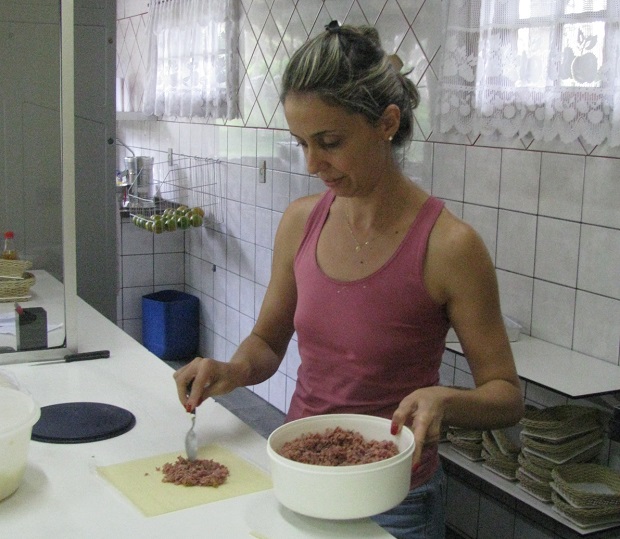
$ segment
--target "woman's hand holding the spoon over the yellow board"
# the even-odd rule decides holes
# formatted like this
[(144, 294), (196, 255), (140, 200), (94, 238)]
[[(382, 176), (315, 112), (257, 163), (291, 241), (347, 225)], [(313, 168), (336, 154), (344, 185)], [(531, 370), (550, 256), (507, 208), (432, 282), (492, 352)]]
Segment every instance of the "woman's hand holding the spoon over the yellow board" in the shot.
[(235, 389), (234, 366), (206, 357), (197, 357), (174, 373), (179, 401), (193, 412), (208, 397)]

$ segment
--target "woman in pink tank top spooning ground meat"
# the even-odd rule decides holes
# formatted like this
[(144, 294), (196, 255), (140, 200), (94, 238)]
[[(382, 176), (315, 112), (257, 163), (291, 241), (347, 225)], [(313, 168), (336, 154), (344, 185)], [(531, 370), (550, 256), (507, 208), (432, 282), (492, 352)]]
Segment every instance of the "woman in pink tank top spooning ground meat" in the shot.
[[(297, 332), (287, 420), (355, 412), (391, 418), (394, 433), (411, 426), (411, 492), (375, 518), (399, 538), (443, 537), (441, 424), (500, 428), (523, 412), (493, 264), (475, 231), (401, 172), (393, 149), (411, 138), (419, 96), (374, 29), (328, 25), (291, 58), (281, 100), (327, 190), (285, 211), (252, 333), (230, 362), (177, 371), (179, 399), (192, 410), (267, 380)], [(475, 389), (438, 386), (450, 326)]]

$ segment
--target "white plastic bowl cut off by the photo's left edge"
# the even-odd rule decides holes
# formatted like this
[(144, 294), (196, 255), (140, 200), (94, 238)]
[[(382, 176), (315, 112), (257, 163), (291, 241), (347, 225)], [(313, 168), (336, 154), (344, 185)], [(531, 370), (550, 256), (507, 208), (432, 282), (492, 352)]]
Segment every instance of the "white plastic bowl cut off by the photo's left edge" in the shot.
[(32, 427), (39, 417), (41, 409), (30, 396), (0, 387), (0, 501), (22, 482)]

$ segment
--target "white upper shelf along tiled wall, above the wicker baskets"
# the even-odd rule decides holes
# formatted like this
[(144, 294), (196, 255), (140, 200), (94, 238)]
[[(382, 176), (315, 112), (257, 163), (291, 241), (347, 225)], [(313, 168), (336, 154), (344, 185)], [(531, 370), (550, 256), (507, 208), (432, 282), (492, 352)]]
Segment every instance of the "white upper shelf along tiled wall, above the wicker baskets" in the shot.
[[(521, 335), (510, 343), (520, 378), (572, 398), (620, 391), (620, 366), (568, 348)], [(463, 355), (460, 343), (446, 349)]]

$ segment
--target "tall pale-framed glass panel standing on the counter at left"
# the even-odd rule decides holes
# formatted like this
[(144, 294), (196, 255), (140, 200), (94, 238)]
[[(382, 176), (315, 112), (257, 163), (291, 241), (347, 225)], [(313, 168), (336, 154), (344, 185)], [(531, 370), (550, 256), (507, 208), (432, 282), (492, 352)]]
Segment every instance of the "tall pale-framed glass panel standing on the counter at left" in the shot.
[[(0, 364), (6, 364), (77, 348), (73, 0), (4, 0), (0, 36), (0, 230), (14, 231), (34, 281), (14, 293), (0, 287)], [(16, 304), (39, 316), (45, 339), (39, 332), (30, 341), (31, 328), (22, 324), (20, 346)], [(46, 320), (34, 308), (44, 309)]]

